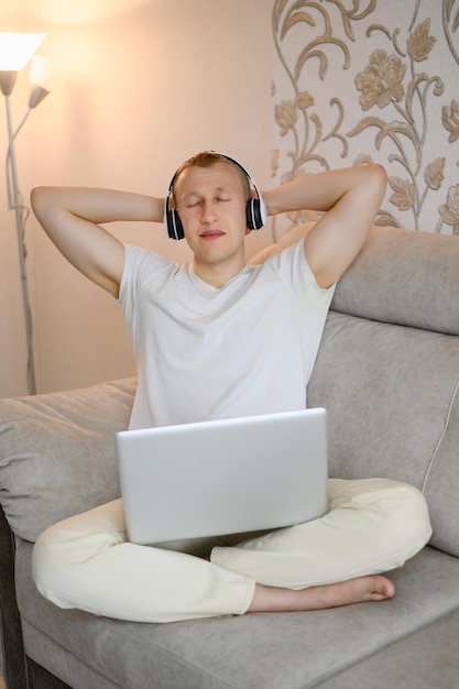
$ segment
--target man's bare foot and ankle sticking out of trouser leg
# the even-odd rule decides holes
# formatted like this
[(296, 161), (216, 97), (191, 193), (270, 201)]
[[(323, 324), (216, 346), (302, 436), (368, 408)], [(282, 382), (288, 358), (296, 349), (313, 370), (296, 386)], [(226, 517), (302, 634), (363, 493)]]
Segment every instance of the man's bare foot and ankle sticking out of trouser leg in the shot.
[(256, 584), (248, 612), (325, 610), (364, 601), (383, 601), (393, 595), (395, 587), (392, 581), (379, 575), (299, 591)]

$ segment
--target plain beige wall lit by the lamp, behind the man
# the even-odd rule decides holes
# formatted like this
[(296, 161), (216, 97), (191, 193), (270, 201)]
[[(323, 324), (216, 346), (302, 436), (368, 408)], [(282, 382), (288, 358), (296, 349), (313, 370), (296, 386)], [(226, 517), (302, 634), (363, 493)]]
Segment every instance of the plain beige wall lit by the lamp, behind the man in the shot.
[[(217, 149), (271, 184), (271, 2), (266, 0), (0, 0), (2, 30), (40, 30), (52, 94), (17, 140), (25, 199), (37, 184), (163, 195), (188, 155)], [(15, 121), (29, 95), (21, 74)], [(0, 157), (6, 122), (0, 120)], [(0, 396), (26, 394), (14, 218), (0, 185)], [(179, 260), (161, 226), (116, 228), (124, 241)], [(249, 252), (271, 240), (250, 238)], [(134, 373), (119, 305), (81, 277), (26, 223), (39, 392)]]

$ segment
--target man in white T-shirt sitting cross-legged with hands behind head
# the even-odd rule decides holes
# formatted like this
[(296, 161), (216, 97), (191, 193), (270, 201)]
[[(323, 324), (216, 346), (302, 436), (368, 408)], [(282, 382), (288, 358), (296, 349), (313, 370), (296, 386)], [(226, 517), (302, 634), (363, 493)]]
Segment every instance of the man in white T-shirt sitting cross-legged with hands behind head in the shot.
[[(163, 199), (33, 190), (52, 241), (122, 303), (139, 371), (131, 428), (306, 405), (334, 286), (363, 245), (385, 173), (346, 168), (263, 194), (267, 215), (325, 215), (304, 241), (261, 266), (245, 263), (248, 179), (239, 163), (208, 152), (177, 171), (166, 216), (179, 220), (193, 251), (186, 266), (123, 247), (100, 226), (160, 222)], [(33, 575), (59, 606), (132, 621), (318, 610), (392, 598), (394, 586), (379, 572), (402, 565), (429, 536), (420, 493), (378, 479), (330, 480), (329, 512), (307, 524), (161, 548), (127, 542), (114, 501), (42, 534)]]

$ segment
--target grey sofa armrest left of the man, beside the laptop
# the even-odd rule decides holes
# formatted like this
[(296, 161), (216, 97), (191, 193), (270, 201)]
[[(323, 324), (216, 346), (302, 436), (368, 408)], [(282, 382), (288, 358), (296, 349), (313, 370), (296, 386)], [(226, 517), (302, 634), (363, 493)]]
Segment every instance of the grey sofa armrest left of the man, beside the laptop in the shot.
[(0, 502), (22, 538), (119, 496), (114, 434), (128, 427), (135, 385), (0, 400)]

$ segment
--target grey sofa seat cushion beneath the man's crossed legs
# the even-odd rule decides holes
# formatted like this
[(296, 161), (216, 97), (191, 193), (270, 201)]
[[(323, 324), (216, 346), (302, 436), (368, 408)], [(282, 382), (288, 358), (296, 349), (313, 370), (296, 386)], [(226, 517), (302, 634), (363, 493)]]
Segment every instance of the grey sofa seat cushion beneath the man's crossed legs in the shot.
[[(45, 667), (68, 672), (63, 679), (80, 689), (106, 687), (100, 677), (130, 689), (316, 687), (459, 609), (458, 560), (425, 548), (391, 573), (397, 589), (391, 601), (306, 613), (128, 623), (61, 610), (43, 599), (31, 584), (30, 549), (30, 544), (19, 544), (25, 649)], [(73, 675), (75, 658), (90, 666), (89, 676)], [(95, 672), (99, 678), (92, 679)]]

